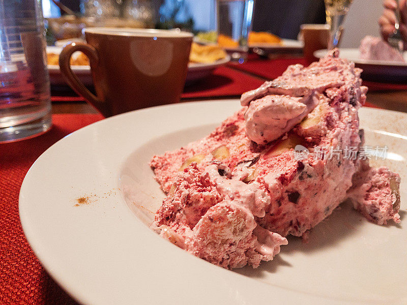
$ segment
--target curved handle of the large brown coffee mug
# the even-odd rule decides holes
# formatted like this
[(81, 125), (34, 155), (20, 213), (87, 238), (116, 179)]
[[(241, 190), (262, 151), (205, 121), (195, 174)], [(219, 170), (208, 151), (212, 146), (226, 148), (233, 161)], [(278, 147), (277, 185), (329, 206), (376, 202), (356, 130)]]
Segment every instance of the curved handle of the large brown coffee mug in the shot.
[(104, 116), (109, 116), (106, 104), (93, 93), (91, 93), (88, 88), (83, 85), (79, 78), (72, 72), (70, 60), (72, 54), (76, 51), (81, 51), (86, 56), (88, 56), (89, 62), (91, 64), (91, 69), (96, 69), (98, 65), (99, 56), (93, 46), (80, 42), (70, 43), (62, 49), (59, 59), (60, 69), (65, 77), (65, 80), (78, 95), (84, 97), (86, 101), (88, 101)]

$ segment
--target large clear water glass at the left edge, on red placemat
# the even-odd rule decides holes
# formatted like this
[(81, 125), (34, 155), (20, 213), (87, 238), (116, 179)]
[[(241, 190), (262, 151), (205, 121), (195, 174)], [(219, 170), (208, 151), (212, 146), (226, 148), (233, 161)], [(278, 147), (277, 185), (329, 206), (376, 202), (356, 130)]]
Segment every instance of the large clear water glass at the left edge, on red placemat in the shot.
[(51, 127), (41, 1), (0, 0), (0, 142)]

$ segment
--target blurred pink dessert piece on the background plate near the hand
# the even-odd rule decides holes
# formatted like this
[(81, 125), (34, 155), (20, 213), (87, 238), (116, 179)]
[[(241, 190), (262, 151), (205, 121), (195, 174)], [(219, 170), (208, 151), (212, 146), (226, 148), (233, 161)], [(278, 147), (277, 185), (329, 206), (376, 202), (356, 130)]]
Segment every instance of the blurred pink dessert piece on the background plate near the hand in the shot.
[(360, 42), (360, 59), (405, 63), (403, 55), (381, 37), (366, 36)]

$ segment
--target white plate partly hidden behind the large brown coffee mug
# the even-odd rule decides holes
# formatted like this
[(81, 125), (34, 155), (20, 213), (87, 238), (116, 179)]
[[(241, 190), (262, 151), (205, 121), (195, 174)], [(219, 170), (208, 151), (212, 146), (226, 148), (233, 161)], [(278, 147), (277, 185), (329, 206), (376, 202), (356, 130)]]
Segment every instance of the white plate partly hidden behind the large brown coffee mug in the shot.
[[(47, 53), (61, 53), (61, 46), (47, 46)], [(74, 53), (73, 56), (77, 56)], [(197, 80), (207, 77), (219, 66), (225, 65), (230, 61), (230, 56), (226, 56), (223, 59), (217, 60), (215, 63), (211, 64), (188, 64), (188, 73), (186, 78), (186, 84), (191, 84)], [(79, 79), (85, 85), (93, 85), (91, 67), (90, 66), (71, 66), (72, 71), (79, 77)], [(60, 66), (48, 65), (49, 79), (53, 85), (66, 85), (64, 76), (60, 71)]]

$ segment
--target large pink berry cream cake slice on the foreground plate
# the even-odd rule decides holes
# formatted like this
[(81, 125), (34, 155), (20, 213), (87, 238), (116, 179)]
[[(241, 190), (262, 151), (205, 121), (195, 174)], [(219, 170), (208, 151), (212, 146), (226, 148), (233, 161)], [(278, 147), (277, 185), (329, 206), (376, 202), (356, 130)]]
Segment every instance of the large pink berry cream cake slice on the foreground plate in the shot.
[(400, 177), (371, 168), (358, 109), (361, 70), (338, 51), (242, 95), (209, 136), (151, 167), (167, 193), (152, 228), (225, 268), (257, 267), (308, 237), (345, 199), (369, 221), (399, 223)]

